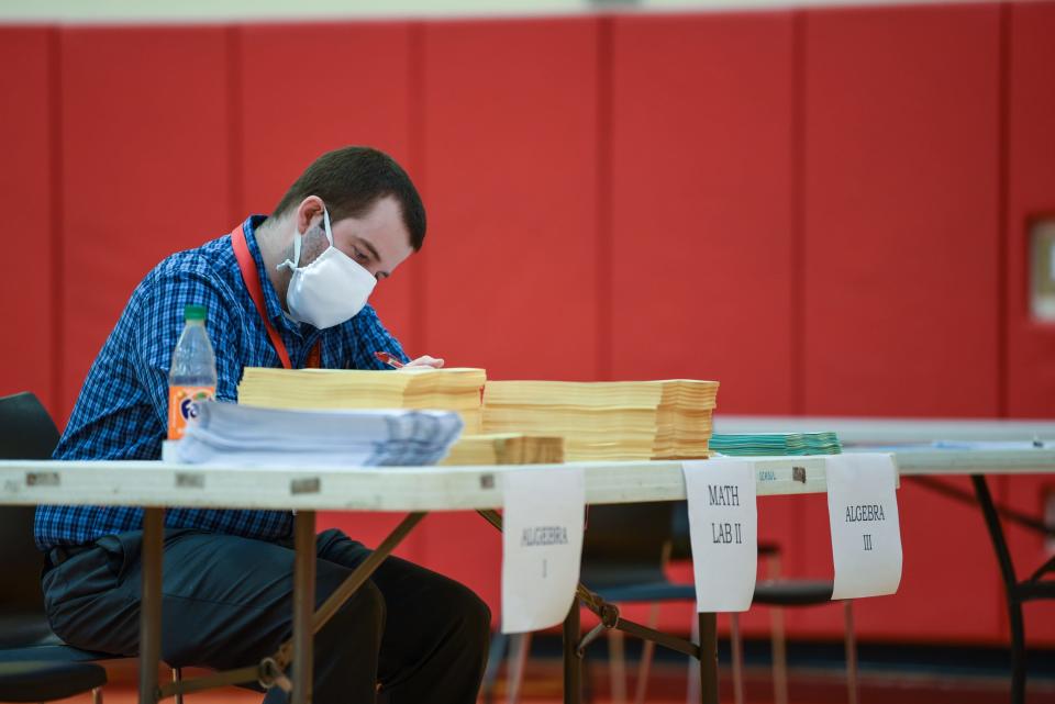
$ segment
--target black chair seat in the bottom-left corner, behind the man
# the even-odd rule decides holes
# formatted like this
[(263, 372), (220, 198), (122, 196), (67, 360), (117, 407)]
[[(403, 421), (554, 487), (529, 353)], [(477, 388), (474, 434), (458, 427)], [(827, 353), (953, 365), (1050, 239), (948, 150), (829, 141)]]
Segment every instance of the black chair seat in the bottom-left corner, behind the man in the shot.
[(91, 692), (102, 704), (107, 671), (91, 662), (0, 662), (0, 702), (54, 702)]

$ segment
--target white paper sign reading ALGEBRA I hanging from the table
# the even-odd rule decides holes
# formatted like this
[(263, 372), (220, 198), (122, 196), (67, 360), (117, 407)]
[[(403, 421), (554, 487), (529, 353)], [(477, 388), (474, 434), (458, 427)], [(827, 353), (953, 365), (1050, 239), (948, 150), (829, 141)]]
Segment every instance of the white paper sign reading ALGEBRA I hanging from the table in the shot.
[(502, 633), (564, 621), (579, 583), (586, 485), (578, 468), (503, 477)]

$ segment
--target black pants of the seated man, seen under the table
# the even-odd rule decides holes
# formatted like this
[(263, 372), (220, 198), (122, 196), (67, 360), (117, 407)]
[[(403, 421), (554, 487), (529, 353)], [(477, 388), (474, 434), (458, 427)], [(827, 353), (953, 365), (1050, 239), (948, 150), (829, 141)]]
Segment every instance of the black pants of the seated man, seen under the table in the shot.
[[(70, 645), (138, 652), (142, 532), (107, 536), (44, 574), (55, 633)], [(370, 551), (340, 530), (316, 539), (315, 604)], [(292, 634), (293, 550), (230, 535), (166, 530), (162, 657), (173, 667), (255, 664)], [(314, 701), (475, 702), (490, 612), (471, 591), (389, 557), (315, 636)], [(286, 701), (278, 689), (266, 704)]]

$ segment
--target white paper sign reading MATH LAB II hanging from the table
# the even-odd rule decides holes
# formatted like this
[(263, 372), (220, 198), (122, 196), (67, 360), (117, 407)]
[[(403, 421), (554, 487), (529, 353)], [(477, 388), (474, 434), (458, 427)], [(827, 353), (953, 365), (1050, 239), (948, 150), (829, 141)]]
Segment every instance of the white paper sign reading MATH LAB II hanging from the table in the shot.
[(682, 462), (696, 606), (700, 613), (747, 611), (758, 570), (755, 463)]

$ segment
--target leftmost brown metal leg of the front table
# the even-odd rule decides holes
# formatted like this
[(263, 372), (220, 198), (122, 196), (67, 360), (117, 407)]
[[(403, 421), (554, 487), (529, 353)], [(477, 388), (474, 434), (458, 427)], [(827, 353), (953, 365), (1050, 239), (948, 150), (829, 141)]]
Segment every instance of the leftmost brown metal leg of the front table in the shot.
[(143, 511), (143, 581), (140, 585), (140, 704), (158, 697), (162, 660), (162, 554), (165, 510)]

